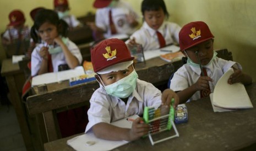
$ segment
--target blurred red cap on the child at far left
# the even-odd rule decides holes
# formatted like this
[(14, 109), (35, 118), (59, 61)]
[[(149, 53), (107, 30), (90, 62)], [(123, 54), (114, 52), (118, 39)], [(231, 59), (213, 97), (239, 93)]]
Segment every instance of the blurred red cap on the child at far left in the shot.
[(9, 24), (7, 26), (16, 26), (25, 22), (24, 14), (21, 10), (13, 10), (9, 14)]

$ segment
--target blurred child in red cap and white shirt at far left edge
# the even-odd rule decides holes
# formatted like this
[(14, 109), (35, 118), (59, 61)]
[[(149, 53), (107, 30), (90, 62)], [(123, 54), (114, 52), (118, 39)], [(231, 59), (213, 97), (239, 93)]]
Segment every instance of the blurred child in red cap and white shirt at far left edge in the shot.
[(2, 34), (2, 44), (6, 47), (7, 57), (23, 55), (29, 48), (30, 28), (25, 26), (25, 17), (21, 10), (15, 9), (9, 14), (10, 23)]

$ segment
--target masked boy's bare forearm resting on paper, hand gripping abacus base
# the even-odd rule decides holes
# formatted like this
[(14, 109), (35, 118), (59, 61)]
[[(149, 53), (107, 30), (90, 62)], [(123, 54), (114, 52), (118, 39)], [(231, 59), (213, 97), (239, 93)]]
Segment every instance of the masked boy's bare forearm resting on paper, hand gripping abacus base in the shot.
[(141, 123), (141, 121), (143, 121), (141, 118), (135, 119), (132, 129), (121, 128), (108, 123), (98, 123), (92, 127), (92, 130), (96, 137), (104, 140), (134, 141), (149, 132), (149, 125)]

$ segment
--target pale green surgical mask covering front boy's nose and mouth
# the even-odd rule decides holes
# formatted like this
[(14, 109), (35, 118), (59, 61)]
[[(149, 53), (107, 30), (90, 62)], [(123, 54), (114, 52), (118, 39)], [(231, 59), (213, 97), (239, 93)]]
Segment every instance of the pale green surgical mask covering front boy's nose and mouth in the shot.
[(108, 95), (118, 98), (127, 98), (135, 90), (138, 74), (133, 69), (133, 72), (115, 83), (104, 86)]

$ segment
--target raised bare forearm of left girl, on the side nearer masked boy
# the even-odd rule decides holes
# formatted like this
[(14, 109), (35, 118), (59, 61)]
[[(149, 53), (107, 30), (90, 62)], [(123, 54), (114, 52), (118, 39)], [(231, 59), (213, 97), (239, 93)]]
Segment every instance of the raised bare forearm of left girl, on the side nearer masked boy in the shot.
[(55, 42), (61, 46), (62, 51), (63, 51), (63, 53), (64, 53), (64, 55), (65, 55), (65, 59), (66, 59), (66, 61), (67, 61), (68, 66), (69, 66), (70, 68), (72, 68), (72, 69), (75, 68), (75, 67), (77, 67), (77, 66), (79, 66), (79, 61), (78, 61), (77, 57), (75, 57), (75, 56), (68, 50), (67, 45), (63, 43), (61, 37), (59, 37), (59, 36), (56, 37), (56, 38), (55, 38)]

